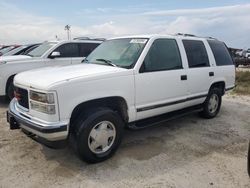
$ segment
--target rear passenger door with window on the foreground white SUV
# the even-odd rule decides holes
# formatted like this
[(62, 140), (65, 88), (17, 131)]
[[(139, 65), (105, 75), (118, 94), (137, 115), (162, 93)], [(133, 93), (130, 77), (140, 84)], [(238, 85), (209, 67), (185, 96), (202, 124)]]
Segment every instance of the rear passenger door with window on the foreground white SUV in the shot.
[(214, 71), (203, 41), (183, 40), (183, 45), (188, 61), (188, 105), (191, 106), (201, 103), (207, 96)]

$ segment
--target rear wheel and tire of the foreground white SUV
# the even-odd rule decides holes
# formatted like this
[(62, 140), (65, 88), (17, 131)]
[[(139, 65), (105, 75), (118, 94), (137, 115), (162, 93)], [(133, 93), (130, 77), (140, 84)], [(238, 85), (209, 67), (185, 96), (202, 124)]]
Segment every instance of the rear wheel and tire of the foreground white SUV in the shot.
[(207, 119), (214, 118), (220, 111), (222, 102), (222, 94), (220, 89), (211, 88), (208, 96), (203, 103), (203, 111), (201, 112), (201, 116)]

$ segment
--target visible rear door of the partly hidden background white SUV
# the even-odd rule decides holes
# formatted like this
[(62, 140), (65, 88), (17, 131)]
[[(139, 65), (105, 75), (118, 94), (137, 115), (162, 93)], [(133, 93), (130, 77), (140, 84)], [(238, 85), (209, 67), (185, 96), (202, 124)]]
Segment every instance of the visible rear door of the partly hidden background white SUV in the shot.
[(78, 43), (79, 56), (72, 58), (72, 64), (79, 64), (84, 60), (99, 43)]

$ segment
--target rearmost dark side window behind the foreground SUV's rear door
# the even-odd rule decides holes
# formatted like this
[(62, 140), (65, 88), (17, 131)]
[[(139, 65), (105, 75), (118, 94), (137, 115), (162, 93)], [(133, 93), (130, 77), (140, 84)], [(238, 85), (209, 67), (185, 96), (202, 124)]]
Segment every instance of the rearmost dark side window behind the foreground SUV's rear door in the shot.
[(214, 54), (217, 66), (233, 65), (230, 53), (223, 42), (216, 40), (208, 40), (208, 44)]

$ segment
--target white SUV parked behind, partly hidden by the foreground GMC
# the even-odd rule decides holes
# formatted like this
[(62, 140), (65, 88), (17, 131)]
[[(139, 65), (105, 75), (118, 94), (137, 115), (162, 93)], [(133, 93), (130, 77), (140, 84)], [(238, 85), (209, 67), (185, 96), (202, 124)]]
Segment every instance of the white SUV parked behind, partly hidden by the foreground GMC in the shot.
[(102, 41), (73, 40), (44, 42), (27, 55), (0, 57), (0, 96), (13, 95), (13, 78), (17, 73), (30, 69), (79, 64)]

